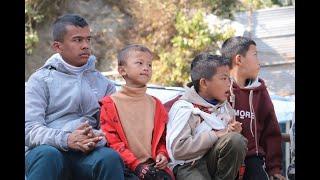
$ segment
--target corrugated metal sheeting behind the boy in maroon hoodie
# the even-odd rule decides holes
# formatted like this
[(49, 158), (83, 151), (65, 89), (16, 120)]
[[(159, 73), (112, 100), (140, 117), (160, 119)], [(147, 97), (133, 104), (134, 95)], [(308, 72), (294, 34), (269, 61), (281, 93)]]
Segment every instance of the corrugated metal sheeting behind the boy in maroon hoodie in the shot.
[[(247, 27), (248, 14), (236, 14), (235, 21)], [(281, 96), (295, 94), (294, 6), (253, 12), (251, 38), (257, 44), (263, 65), (259, 76), (268, 89)]]

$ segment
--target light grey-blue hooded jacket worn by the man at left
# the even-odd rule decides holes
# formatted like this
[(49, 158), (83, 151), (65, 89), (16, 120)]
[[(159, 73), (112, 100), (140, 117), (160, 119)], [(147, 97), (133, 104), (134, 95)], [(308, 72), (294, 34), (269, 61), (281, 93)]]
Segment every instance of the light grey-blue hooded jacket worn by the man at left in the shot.
[[(115, 92), (114, 84), (95, 69), (90, 56), (79, 73), (70, 71), (60, 54), (52, 55), (25, 87), (25, 152), (47, 144), (67, 151), (68, 135), (89, 121), (99, 129), (99, 100)], [(97, 146), (104, 146), (101, 140)]]

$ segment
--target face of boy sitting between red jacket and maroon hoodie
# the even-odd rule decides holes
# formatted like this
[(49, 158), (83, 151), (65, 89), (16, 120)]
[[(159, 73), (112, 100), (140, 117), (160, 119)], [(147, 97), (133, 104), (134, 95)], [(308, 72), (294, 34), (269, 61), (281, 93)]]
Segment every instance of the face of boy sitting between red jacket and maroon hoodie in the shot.
[(206, 94), (220, 102), (227, 100), (230, 88), (229, 66), (220, 66), (211, 79), (206, 80)]

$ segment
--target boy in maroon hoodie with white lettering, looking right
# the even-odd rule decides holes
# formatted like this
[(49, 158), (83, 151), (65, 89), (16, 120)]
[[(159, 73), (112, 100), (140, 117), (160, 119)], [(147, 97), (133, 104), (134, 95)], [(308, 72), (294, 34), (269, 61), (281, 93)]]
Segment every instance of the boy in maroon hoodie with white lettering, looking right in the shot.
[(227, 39), (221, 54), (230, 59), (232, 78), (230, 102), (242, 134), (248, 139), (243, 179), (280, 179), (281, 133), (260, 69), (256, 43), (246, 37)]

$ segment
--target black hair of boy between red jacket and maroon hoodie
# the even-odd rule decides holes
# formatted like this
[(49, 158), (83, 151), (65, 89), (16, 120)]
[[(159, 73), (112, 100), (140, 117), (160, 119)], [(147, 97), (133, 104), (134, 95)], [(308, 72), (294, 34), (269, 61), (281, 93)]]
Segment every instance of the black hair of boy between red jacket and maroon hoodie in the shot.
[(191, 62), (191, 83), (187, 86), (194, 86), (196, 92), (200, 89), (200, 79), (210, 79), (217, 72), (217, 68), (221, 66), (230, 66), (230, 61), (219, 55), (210, 53), (200, 53)]

